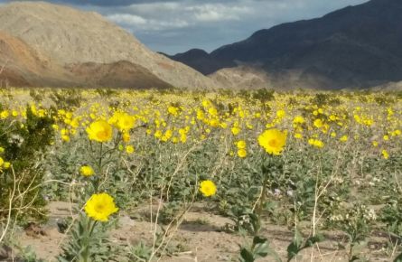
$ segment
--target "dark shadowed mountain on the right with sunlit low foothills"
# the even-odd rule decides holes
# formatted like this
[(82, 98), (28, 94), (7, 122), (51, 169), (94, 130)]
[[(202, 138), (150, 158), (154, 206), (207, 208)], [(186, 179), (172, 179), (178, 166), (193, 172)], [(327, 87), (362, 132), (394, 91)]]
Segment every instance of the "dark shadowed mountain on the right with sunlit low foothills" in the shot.
[(260, 30), (210, 53), (194, 49), (170, 58), (231, 88), (244, 70), (254, 88), (367, 88), (400, 81), (402, 0), (371, 0)]

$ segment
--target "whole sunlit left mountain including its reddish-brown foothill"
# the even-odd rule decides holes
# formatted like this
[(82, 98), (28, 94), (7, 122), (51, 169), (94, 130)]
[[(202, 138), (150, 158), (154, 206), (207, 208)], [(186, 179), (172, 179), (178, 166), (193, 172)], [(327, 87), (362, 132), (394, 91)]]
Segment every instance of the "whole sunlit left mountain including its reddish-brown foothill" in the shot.
[[(13, 2), (0, 7), (0, 33), (21, 43), (24, 51), (14, 56), (26, 51), (35, 68), (41, 68), (32, 71), (18, 59), (0, 57), (0, 69), (5, 68), (0, 80), (12, 85), (219, 87), (200, 72), (150, 51), (131, 33), (92, 12), (44, 2)], [(44, 77), (48, 75), (53, 76), (51, 82)]]

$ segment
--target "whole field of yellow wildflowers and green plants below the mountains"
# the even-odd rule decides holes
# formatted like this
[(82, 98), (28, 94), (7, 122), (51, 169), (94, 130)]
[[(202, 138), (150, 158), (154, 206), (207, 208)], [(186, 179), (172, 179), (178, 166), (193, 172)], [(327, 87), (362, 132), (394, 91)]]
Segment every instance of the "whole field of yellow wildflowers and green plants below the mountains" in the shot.
[[(3, 89), (0, 101), (0, 260), (402, 261), (401, 93)], [(55, 202), (70, 207), (58, 220)], [(126, 220), (146, 229), (115, 241)], [(212, 232), (234, 245), (198, 253), (180, 238), (189, 223), (201, 248)], [(27, 230), (51, 225), (57, 251), (28, 248)]]

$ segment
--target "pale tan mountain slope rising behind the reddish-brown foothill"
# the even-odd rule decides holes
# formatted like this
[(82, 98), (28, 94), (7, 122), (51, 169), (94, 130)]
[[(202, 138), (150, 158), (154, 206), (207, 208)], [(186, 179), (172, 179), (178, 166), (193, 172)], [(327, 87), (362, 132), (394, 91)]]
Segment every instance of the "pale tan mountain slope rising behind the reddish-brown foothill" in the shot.
[(196, 70), (150, 51), (100, 14), (43, 2), (13, 2), (0, 7), (0, 31), (47, 54), (51, 64), (129, 61), (176, 87), (218, 86)]

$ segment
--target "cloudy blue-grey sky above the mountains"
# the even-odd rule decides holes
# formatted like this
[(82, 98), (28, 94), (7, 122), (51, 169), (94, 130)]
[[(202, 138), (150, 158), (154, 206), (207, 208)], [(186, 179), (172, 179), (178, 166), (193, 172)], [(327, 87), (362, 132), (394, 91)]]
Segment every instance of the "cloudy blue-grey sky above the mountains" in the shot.
[[(0, 3), (7, 0), (0, 0)], [(51, 0), (96, 11), (154, 51), (212, 51), (278, 23), (323, 16), (368, 0)]]

